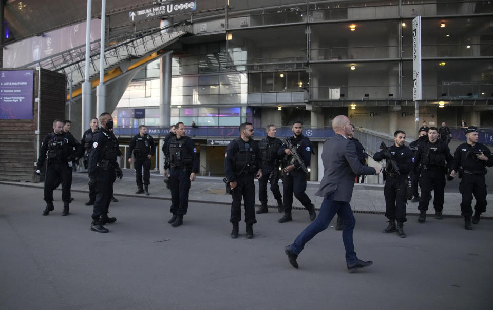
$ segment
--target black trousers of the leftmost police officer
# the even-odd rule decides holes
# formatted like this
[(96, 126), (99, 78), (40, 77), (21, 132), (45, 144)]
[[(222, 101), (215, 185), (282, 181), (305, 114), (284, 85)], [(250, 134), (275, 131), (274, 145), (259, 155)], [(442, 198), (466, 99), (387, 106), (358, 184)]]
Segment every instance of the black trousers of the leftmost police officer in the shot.
[[(48, 164), (48, 163), (46, 163)], [(50, 163), (46, 169), (44, 199), (53, 202), (53, 191), (62, 184), (62, 200), (70, 203), (70, 187), (72, 186), (72, 167), (67, 162)]]

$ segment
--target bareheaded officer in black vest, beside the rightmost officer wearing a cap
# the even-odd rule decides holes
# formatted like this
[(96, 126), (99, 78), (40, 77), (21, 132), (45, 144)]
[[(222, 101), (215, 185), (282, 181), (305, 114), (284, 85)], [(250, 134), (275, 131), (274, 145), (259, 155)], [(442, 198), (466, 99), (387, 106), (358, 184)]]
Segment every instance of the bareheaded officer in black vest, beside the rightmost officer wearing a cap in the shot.
[(418, 222), (426, 221), (426, 211), (430, 202), (431, 189), (434, 190), (433, 207), (435, 208), (435, 218), (442, 219), (445, 174), (452, 164), (452, 155), (446, 144), (438, 139), (437, 127), (430, 127), (428, 131), (428, 141), (419, 144), (418, 151), (414, 154), (414, 169), (421, 165), (421, 197), (418, 209), (420, 217)]

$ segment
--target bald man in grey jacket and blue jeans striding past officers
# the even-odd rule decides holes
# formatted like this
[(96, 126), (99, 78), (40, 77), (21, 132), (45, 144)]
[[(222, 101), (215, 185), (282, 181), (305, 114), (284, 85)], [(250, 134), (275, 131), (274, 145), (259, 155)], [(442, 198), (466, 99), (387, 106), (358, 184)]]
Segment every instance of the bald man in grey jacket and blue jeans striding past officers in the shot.
[(372, 261), (362, 261), (356, 257), (353, 244), (355, 219), (349, 201), (354, 187), (354, 178), (362, 174), (378, 174), (382, 167), (367, 167), (361, 164), (354, 143), (347, 137), (351, 133), (349, 118), (338, 115), (332, 120), (334, 137), (324, 142), (322, 162), (324, 177), (315, 195), (324, 197), (317, 219), (299, 234), (293, 244), (286, 246), (290, 264), (298, 268), (296, 258), (316, 234), (325, 230), (335, 214), (343, 219), (343, 242), (346, 249), (346, 262), (350, 272), (371, 265)]

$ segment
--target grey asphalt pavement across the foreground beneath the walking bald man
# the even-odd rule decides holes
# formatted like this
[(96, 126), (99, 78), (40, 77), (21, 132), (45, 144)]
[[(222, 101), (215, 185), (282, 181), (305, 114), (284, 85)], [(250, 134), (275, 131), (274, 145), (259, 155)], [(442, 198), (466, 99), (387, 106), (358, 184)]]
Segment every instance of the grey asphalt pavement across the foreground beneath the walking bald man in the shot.
[[(341, 232), (331, 226), (298, 257), (283, 247), (309, 223), (305, 211), (277, 223), (257, 215), (254, 239), (231, 239), (230, 208), (190, 204), (172, 228), (169, 201), (119, 196), (108, 234), (92, 232), (87, 193), (71, 214), (42, 216), (43, 189), (0, 184), (0, 309), (491, 309), (493, 220), (472, 231), (460, 218), (409, 217), (407, 238), (383, 234), (385, 218), (355, 214), (355, 250), (373, 260), (348, 273)], [(333, 221), (334, 222), (334, 221)]]

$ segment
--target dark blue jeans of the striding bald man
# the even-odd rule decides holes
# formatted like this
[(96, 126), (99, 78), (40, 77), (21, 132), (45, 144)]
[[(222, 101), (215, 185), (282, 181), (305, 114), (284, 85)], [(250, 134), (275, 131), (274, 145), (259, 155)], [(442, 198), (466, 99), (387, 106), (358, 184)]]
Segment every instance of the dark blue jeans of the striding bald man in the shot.
[(343, 220), (343, 242), (346, 249), (346, 262), (348, 264), (356, 262), (357, 257), (353, 244), (353, 229), (356, 220), (354, 219), (349, 202), (335, 201), (334, 194), (330, 194), (329, 197), (324, 198), (317, 219), (296, 237), (294, 243), (291, 244), (291, 250), (299, 255), (308, 241), (319, 232), (328, 228), (330, 221), (336, 214)]

